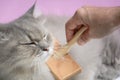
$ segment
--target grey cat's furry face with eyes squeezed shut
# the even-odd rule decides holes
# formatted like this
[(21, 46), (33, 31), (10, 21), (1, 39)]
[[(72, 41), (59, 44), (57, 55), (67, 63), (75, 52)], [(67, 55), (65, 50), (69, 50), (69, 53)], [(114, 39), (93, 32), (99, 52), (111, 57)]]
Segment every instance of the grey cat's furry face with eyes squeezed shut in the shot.
[(41, 16), (34, 18), (28, 11), (21, 18), (0, 25), (1, 63), (30, 61), (36, 56), (43, 58), (43, 55), (49, 55), (53, 41), (51, 34), (42, 25), (42, 19)]

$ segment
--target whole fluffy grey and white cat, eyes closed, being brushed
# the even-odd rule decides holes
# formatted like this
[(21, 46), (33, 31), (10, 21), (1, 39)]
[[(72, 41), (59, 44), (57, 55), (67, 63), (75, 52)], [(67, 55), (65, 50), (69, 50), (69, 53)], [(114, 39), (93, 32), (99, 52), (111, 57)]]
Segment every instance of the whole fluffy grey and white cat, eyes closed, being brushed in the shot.
[[(55, 80), (46, 65), (52, 53), (51, 34), (65, 43), (67, 17), (34, 17), (33, 8), (19, 19), (0, 25), (0, 80)], [(45, 26), (45, 27), (44, 27)], [(103, 39), (75, 45), (71, 56), (82, 66), (70, 80), (115, 80), (120, 76), (120, 30)]]

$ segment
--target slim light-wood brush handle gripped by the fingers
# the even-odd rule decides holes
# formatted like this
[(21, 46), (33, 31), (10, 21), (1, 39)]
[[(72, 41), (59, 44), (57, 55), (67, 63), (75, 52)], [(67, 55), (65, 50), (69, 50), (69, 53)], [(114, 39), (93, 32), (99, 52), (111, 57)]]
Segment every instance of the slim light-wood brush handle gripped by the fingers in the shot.
[(68, 48), (68, 51), (70, 50), (70, 48), (77, 42), (78, 38), (82, 35), (82, 33), (87, 29), (87, 27), (82, 27), (72, 38), (72, 40), (70, 40), (65, 47)]

